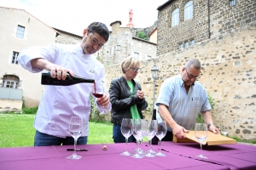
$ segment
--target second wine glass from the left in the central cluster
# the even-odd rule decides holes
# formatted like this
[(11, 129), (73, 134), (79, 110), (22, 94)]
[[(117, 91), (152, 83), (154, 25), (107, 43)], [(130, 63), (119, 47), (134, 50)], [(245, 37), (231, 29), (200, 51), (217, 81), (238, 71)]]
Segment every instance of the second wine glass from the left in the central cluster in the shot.
[(141, 119), (133, 119), (132, 122), (132, 134), (134, 138), (137, 140), (137, 149), (135, 149), (135, 154), (131, 157), (133, 158), (143, 158), (144, 156), (140, 154), (140, 147), (138, 146), (139, 140), (143, 138), (143, 127), (141, 123)]

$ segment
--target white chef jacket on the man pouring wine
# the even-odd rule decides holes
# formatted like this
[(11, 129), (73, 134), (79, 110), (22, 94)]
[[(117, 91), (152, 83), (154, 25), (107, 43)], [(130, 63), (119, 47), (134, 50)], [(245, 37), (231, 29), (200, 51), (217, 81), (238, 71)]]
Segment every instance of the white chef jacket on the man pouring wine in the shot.
[[(18, 61), (22, 67), (31, 72), (42, 69), (32, 68), (31, 60), (44, 58), (56, 65), (70, 69), (79, 77), (104, 81), (104, 67), (93, 55), (83, 54), (79, 44), (64, 45), (51, 44), (46, 47), (25, 48), (20, 52)], [(82, 136), (88, 135), (90, 116), (90, 89), (93, 83), (79, 83), (72, 86), (45, 86), (44, 94), (40, 101), (38, 112), (35, 116), (34, 127), (41, 133), (47, 133), (65, 138), (69, 133), (71, 116), (83, 116), (87, 126)], [(106, 86), (105, 86), (106, 89)], [(105, 93), (108, 94), (107, 90)], [(95, 99), (96, 101), (96, 99)], [(98, 110), (103, 110), (98, 106)], [(111, 104), (107, 111), (110, 111)]]

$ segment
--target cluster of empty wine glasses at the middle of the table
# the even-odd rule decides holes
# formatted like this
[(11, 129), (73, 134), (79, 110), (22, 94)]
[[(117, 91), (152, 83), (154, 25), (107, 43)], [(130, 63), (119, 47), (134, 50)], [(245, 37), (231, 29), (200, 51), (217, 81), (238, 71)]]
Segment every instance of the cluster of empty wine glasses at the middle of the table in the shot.
[[(134, 158), (155, 157), (155, 156), (166, 156), (160, 152), (156, 153), (152, 150), (151, 139), (156, 136), (160, 141), (166, 136), (167, 127), (165, 121), (157, 122), (156, 120), (143, 120), (143, 119), (128, 119), (124, 118), (121, 124), (121, 133), (125, 136), (126, 146), (125, 151), (120, 153), (122, 156), (131, 156)], [(134, 136), (137, 139), (137, 148), (134, 150), (134, 154), (131, 154), (127, 150), (128, 138)], [(148, 138), (149, 150), (143, 151), (139, 144), (141, 144), (143, 137)]]

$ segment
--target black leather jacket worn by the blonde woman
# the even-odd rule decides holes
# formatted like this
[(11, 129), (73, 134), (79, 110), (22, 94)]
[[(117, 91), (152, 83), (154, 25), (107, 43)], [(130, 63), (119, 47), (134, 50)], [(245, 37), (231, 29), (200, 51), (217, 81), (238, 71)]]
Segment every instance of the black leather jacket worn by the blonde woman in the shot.
[(131, 82), (134, 84), (133, 94), (130, 92), (125, 77), (116, 78), (110, 84), (111, 122), (114, 124), (121, 125), (123, 118), (131, 118), (130, 108), (132, 105), (137, 105), (137, 111), (142, 119), (142, 111), (148, 107), (147, 101), (137, 96), (137, 90), (142, 90), (141, 85), (133, 79)]

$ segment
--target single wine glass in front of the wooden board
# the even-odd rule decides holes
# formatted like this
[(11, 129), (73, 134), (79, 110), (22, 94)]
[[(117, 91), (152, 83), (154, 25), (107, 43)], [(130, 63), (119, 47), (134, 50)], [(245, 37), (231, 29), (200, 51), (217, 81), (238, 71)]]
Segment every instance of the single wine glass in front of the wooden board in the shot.
[[(207, 139), (207, 136), (208, 136), (207, 124), (206, 123), (195, 123), (195, 138), (199, 140), (200, 147), (201, 147), (201, 143)], [(202, 149), (201, 149), (201, 151), (202, 151)], [(197, 157), (208, 159), (206, 156), (203, 156), (202, 154), (200, 154)]]

